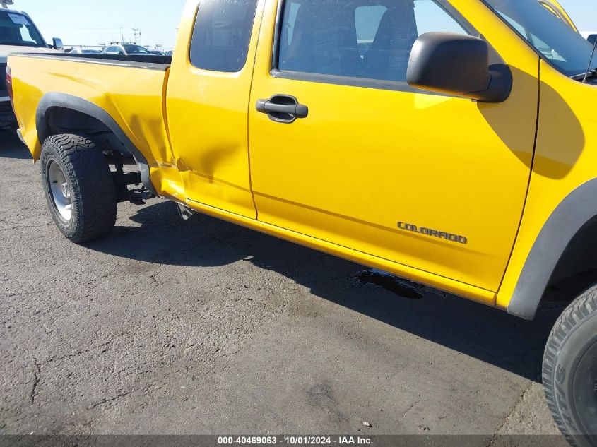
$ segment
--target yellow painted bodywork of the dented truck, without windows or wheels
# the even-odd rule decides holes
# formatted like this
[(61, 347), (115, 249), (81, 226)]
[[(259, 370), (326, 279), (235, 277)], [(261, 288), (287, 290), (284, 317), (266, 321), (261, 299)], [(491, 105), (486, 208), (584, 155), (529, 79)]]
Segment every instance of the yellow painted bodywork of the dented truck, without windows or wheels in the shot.
[[(37, 160), (42, 98), (81, 98), (138, 149), (159, 196), (532, 318), (566, 246), (541, 233), (596, 178), (597, 87), (559, 73), (482, 1), (449, 4), (511, 71), (506, 101), (276, 76), (278, 0), (258, 2), (240, 71), (201, 70), (189, 0), (171, 66), (11, 56), (20, 131)], [(279, 93), (308, 117), (279, 124), (256, 109)], [(568, 222), (572, 237), (583, 219)], [(533, 250), (550, 253), (545, 266), (526, 267)]]

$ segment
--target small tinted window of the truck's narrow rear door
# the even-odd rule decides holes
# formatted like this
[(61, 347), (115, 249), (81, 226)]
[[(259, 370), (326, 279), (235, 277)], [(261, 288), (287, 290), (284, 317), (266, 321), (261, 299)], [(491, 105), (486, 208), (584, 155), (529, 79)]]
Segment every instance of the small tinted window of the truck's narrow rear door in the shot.
[(191, 64), (204, 70), (236, 72), (247, 61), (257, 0), (201, 0)]

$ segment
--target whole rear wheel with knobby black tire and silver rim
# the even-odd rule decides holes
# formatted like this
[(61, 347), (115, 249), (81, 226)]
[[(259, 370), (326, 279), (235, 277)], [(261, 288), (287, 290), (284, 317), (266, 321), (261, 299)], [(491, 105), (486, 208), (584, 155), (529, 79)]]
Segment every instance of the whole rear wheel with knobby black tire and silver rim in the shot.
[(83, 244), (112, 232), (116, 187), (95, 143), (78, 135), (50, 136), (40, 161), (47, 205), (64, 236)]

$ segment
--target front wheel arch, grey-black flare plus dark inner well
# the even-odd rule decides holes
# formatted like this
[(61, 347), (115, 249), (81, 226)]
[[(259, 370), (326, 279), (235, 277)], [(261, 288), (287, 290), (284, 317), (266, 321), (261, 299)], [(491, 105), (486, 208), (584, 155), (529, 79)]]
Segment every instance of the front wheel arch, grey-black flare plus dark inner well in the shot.
[(589, 242), (595, 240), (597, 179), (592, 179), (569, 193), (543, 225), (516, 283), (508, 313), (532, 320), (552, 280), (572, 275), (572, 269), (583, 273)]

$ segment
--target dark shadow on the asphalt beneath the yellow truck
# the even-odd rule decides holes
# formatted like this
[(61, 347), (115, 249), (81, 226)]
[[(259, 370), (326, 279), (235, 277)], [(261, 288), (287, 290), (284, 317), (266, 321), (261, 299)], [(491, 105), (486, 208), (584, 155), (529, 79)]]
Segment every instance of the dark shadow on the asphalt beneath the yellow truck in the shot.
[(540, 381), (545, 342), (565, 306), (547, 303), (529, 322), (459, 297), (427, 292), (408, 299), (399, 290), (363, 285), (363, 266), (205, 215), (184, 222), (167, 202), (139, 208), (131, 220), (141, 227), (116, 227), (88, 248), (173, 266), (251, 262), (318, 297), (534, 381)]

